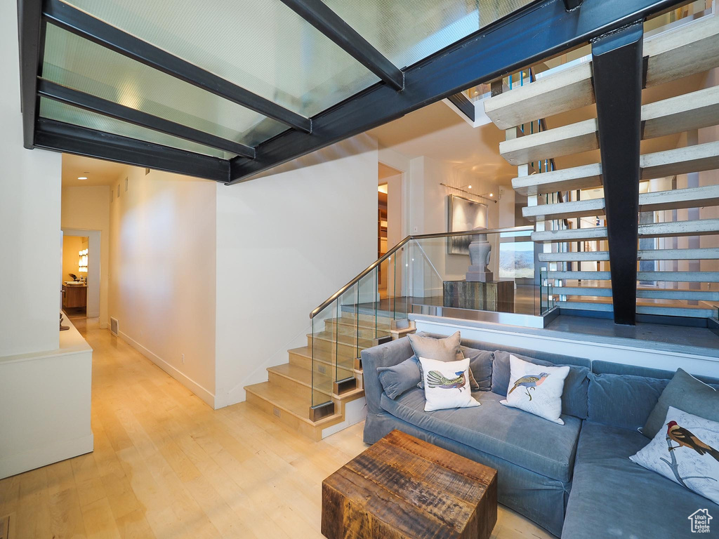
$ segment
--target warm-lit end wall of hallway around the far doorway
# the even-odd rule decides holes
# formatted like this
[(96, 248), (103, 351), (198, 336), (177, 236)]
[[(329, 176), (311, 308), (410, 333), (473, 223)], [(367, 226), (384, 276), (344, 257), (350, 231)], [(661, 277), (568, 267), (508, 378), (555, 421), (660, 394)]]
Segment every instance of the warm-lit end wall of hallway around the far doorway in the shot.
[[(63, 229), (100, 231), (100, 327), (108, 324), (110, 267), (110, 188), (107, 185), (65, 187), (62, 197)], [(90, 268), (95, 273), (96, 268)], [(76, 272), (75, 272), (76, 273)], [(88, 275), (88, 281), (89, 279)], [(92, 285), (92, 283), (91, 283)], [(88, 289), (88, 293), (90, 289)], [(88, 302), (90, 298), (88, 297)], [(88, 309), (90, 305), (88, 304)], [(88, 310), (88, 316), (92, 313)]]

